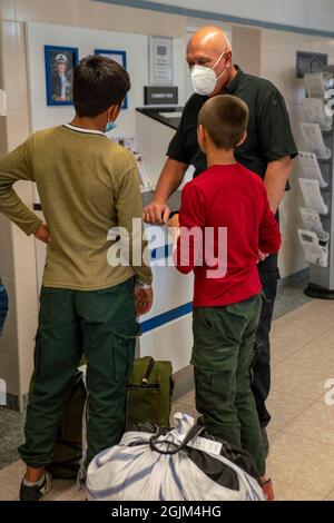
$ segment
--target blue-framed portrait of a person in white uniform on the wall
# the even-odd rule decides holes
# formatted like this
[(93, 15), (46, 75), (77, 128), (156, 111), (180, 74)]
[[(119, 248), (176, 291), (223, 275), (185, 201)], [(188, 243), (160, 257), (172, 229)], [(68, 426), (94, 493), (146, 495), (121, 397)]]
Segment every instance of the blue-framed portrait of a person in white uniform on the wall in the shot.
[(72, 106), (73, 68), (79, 50), (72, 47), (45, 46), (48, 106)]

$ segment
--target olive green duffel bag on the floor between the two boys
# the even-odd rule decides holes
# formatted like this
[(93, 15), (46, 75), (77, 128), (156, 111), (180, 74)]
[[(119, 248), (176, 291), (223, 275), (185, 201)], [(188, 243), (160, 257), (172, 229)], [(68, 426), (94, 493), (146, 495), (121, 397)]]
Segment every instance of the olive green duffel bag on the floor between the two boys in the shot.
[(127, 427), (139, 423), (169, 427), (171, 374), (170, 362), (155, 362), (150, 356), (135, 361), (127, 386)]

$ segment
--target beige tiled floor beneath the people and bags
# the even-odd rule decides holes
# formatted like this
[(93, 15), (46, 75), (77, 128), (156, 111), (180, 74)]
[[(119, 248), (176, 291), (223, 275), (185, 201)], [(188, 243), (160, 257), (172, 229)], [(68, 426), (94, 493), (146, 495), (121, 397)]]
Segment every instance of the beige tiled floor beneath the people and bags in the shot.
[[(278, 501), (334, 501), (334, 406), (325, 383), (334, 378), (334, 303), (312, 300), (274, 322), (273, 422), (268, 474)], [(194, 393), (173, 412), (196, 414)], [(16, 462), (0, 471), (0, 500), (14, 500), (22, 475)], [(82, 500), (71, 482), (55, 482), (49, 500)]]

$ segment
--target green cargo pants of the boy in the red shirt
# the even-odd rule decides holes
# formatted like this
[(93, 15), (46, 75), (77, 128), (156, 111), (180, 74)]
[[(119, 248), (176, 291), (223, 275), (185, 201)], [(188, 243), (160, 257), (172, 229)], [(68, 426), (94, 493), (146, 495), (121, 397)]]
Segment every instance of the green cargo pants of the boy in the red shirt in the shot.
[(226, 307), (194, 310), (196, 407), (207, 431), (248, 451), (261, 475), (265, 456), (250, 389), (256, 358), (259, 295)]

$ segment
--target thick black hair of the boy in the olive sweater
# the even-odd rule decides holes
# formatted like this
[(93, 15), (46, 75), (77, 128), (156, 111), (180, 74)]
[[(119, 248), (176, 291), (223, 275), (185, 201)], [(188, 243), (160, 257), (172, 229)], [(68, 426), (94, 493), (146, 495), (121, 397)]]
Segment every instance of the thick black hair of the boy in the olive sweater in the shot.
[(130, 90), (130, 77), (116, 61), (90, 56), (75, 67), (73, 105), (79, 117), (96, 117), (120, 106)]

